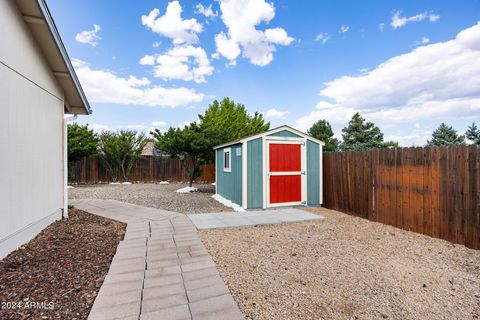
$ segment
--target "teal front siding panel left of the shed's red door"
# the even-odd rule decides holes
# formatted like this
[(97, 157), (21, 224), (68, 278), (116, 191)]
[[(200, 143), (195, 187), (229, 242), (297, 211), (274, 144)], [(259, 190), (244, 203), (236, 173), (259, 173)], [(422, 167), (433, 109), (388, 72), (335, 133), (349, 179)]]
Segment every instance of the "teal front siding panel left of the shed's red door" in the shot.
[(247, 209), (263, 207), (262, 138), (247, 142)]

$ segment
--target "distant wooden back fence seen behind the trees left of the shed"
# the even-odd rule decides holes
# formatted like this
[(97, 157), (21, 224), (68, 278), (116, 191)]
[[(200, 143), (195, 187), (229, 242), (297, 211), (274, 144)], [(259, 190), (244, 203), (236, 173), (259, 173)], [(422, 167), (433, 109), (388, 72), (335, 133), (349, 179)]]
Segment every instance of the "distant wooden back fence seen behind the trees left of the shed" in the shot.
[[(215, 165), (202, 166), (202, 175), (197, 182), (214, 182)], [(122, 174), (119, 173), (119, 179)], [(101, 159), (84, 158), (73, 168), (71, 181), (73, 183), (105, 183), (111, 182), (111, 177)], [(185, 167), (177, 158), (162, 156), (141, 156), (135, 161), (130, 174), (132, 182), (187, 181)]]

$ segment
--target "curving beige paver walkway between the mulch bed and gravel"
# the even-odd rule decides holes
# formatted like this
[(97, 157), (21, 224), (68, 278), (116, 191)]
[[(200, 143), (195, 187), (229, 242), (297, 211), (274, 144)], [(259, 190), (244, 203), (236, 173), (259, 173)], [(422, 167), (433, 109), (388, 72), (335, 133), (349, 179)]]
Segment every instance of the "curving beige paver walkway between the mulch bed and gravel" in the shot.
[(186, 215), (114, 200), (71, 203), (127, 223), (89, 320), (244, 319)]

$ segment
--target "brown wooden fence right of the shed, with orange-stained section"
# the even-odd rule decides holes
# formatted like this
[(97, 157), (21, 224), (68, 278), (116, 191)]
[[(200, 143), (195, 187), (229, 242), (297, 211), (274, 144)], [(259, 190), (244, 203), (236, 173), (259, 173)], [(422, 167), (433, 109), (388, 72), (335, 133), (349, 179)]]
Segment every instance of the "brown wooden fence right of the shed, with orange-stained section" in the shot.
[(480, 147), (323, 156), (324, 205), (480, 249)]

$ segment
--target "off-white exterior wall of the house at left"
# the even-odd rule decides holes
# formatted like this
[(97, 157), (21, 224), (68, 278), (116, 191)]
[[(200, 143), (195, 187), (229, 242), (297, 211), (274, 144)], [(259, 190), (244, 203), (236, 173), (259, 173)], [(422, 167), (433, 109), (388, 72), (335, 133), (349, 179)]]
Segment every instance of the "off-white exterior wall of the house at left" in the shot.
[(62, 91), (12, 1), (0, 1), (0, 258), (63, 207)]

